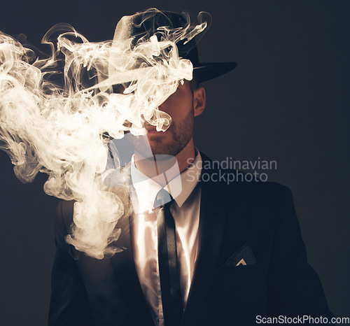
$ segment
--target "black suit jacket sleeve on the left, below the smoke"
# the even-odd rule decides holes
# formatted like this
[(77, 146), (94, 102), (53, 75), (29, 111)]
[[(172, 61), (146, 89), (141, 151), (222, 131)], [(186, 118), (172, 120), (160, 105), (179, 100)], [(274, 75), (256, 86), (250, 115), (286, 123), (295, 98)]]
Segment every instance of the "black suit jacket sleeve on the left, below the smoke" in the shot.
[(56, 255), (52, 268), (48, 326), (94, 326), (85, 285), (76, 262), (69, 254), (69, 245), (64, 241), (67, 232), (62, 203), (59, 202), (55, 216)]

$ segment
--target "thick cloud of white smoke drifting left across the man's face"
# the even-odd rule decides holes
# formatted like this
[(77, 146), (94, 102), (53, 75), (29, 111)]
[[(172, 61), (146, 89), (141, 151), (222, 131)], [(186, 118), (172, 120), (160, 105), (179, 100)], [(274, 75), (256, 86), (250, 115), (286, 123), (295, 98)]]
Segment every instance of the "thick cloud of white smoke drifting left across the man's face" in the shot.
[[(157, 12), (146, 10), (144, 20)], [(0, 33), (0, 148), (22, 182), (31, 182), (39, 171), (48, 173), (47, 194), (76, 200), (66, 241), (77, 250), (98, 259), (120, 250), (111, 244), (120, 234), (116, 223), (130, 214), (130, 204), (122, 173), (119, 187), (102, 182), (109, 137), (146, 134), (145, 122), (158, 131), (169, 127), (171, 118), (158, 106), (193, 73), (175, 43), (206, 27), (206, 22), (191, 25), (188, 20), (184, 29), (162, 28), (160, 38), (144, 37), (135, 45), (134, 39), (123, 38), (124, 19), (114, 40), (101, 43), (90, 43), (73, 27), (59, 24), (43, 38), (52, 48), (47, 59), (36, 58), (33, 50)], [(62, 29), (55, 43), (50, 41)], [(64, 86), (50, 82), (60, 57)], [(120, 84), (123, 94), (113, 93), (113, 85)], [(114, 157), (118, 169), (116, 153)]]

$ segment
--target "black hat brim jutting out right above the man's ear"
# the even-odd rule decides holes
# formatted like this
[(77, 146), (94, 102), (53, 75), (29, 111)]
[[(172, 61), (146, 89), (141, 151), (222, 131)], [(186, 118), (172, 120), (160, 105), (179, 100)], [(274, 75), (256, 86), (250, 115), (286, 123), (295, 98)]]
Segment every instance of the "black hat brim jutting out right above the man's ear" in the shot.
[(228, 73), (229, 71), (235, 69), (236, 66), (236, 62), (203, 62), (197, 64), (195, 67), (193, 67), (193, 69), (197, 77), (197, 82), (203, 83), (204, 81), (216, 78), (224, 73)]

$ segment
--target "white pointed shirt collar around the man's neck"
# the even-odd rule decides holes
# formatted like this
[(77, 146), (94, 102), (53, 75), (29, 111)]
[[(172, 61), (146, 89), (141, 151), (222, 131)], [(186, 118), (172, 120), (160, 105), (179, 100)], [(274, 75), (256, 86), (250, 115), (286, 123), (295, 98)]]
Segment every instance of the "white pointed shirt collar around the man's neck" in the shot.
[(164, 189), (172, 195), (179, 207), (183, 205), (195, 189), (202, 171), (202, 157), (199, 150), (197, 148), (195, 150), (197, 155), (188, 169), (179, 173), (179, 166), (176, 162), (163, 175), (155, 178), (148, 178), (148, 176), (139, 171), (134, 164), (134, 156), (132, 157), (131, 179), (137, 194), (139, 211), (150, 211), (153, 209), (155, 197), (163, 188), (164, 180), (170, 180), (165, 184)]

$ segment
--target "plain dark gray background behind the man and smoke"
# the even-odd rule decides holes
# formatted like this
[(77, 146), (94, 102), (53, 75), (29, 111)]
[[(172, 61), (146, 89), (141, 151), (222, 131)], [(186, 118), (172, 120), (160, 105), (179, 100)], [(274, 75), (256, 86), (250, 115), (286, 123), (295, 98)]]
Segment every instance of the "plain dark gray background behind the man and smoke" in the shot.
[[(0, 29), (38, 45), (53, 24), (68, 22), (98, 41), (113, 37), (120, 17), (145, 8), (211, 13), (200, 59), (238, 67), (204, 83), (195, 143), (214, 160), (276, 160), (269, 180), (293, 191), (330, 309), (349, 316), (350, 1), (41, 2), (1, 6)], [(0, 323), (45, 325), (57, 199), (43, 193), (45, 175), (23, 185), (5, 153), (0, 160)]]

